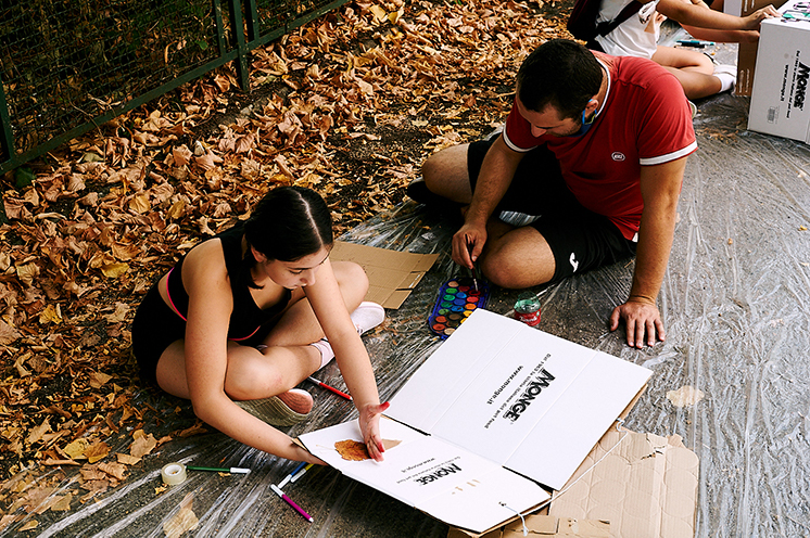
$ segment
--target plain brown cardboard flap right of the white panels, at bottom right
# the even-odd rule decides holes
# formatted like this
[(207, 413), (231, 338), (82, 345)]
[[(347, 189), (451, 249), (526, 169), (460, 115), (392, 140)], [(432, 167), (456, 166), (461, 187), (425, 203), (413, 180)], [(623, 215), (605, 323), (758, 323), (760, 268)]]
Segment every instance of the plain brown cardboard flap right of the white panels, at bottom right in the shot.
[(612, 538), (693, 538), (698, 458), (680, 436), (611, 428), (549, 514), (610, 522)]

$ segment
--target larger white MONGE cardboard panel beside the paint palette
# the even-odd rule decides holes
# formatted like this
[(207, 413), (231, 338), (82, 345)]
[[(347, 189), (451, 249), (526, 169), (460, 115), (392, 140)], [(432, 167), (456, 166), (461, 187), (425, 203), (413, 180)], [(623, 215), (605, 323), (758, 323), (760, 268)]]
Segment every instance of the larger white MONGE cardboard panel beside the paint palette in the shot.
[(650, 375), (476, 310), (390, 400), (388, 414), (559, 489)]

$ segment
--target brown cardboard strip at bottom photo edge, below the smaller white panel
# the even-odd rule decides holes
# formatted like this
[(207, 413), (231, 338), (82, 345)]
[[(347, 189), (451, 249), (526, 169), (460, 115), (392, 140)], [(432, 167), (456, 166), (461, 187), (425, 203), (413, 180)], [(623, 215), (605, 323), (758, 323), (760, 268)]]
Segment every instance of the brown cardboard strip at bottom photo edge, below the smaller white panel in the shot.
[[(610, 522), (597, 520), (574, 520), (572, 517), (557, 517), (554, 515), (532, 514), (526, 516), (526, 528), (530, 537), (535, 538), (610, 538)], [(447, 538), (469, 538), (470, 535), (452, 528)], [(523, 522), (520, 520), (490, 530), (478, 538), (522, 538)]]

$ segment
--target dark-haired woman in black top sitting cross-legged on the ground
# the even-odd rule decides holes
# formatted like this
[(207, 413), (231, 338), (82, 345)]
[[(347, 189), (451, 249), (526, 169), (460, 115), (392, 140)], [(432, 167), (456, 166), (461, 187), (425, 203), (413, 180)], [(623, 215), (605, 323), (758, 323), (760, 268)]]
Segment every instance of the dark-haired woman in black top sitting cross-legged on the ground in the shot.
[(236, 440), (322, 463), (237, 402), (269, 398), (276, 425), (305, 419), (312, 396), (293, 387), (334, 357), (368, 452), (381, 461), (388, 405), (360, 334), (384, 310), (363, 302), (368, 279), (359, 266), (330, 261), (332, 244), (331, 215), (317, 193), (269, 191), (246, 222), (194, 246), (149, 291), (132, 323), (141, 375), (189, 398), (201, 420)]

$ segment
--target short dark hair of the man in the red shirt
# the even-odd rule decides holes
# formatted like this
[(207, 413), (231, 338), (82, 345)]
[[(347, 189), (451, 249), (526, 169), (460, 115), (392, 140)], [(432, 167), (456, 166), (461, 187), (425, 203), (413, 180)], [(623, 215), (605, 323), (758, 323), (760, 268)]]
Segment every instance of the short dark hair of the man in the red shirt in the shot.
[(520, 65), (518, 98), (528, 110), (554, 106), (562, 118), (579, 119), (599, 92), (602, 67), (593, 53), (568, 39), (541, 44)]

